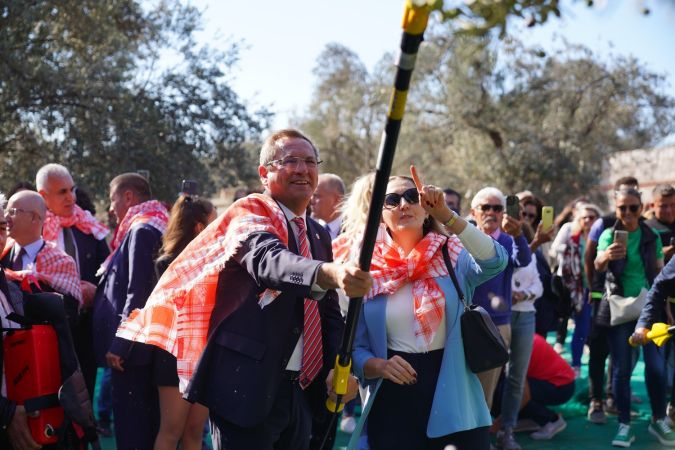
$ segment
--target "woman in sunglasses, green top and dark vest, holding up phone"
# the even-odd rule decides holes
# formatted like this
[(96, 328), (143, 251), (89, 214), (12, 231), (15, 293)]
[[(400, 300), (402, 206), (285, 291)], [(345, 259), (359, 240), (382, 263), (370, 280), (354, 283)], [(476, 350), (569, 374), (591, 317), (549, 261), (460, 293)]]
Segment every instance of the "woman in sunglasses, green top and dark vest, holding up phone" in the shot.
[[(635, 436), (630, 428), (630, 377), (633, 371), (633, 349), (628, 343), (636, 326), (636, 319), (611, 325), (612, 311), (607, 302), (607, 292), (622, 297), (636, 297), (649, 289), (663, 267), (663, 247), (656, 233), (640, 220), (642, 197), (636, 189), (615, 193), (615, 225), (603, 231), (598, 240), (595, 270), (606, 272), (605, 294), (596, 321), (609, 326), (609, 349), (614, 368), (612, 391), (619, 409), (619, 430), (612, 441), (617, 447), (630, 447)], [(625, 243), (616, 242), (615, 232), (628, 232)], [(616, 318), (615, 318), (616, 319)], [(670, 429), (666, 416), (666, 376), (664, 349), (648, 344), (644, 347), (645, 381), (652, 407), (649, 432), (663, 445), (675, 445), (675, 433)]]

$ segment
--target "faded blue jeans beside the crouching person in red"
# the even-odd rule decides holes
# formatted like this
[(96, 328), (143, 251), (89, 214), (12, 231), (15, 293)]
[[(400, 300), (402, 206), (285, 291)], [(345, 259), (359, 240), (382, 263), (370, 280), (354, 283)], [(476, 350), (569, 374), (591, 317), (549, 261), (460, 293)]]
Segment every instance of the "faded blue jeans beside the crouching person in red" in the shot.
[(511, 348), (506, 365), (506, 379), (502, 395), (502, 427), (514, 428), (518, 421), (520, 402), (523, 399), (527, 366), (532, 354), (535, 326), (534, 311), (511, 312)]

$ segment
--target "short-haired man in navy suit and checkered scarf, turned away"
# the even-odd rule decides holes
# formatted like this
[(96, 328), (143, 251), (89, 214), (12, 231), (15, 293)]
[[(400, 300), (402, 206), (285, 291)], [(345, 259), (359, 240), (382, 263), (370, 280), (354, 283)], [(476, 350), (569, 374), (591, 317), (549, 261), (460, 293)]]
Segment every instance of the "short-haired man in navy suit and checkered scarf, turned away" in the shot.
[[(154, 258), (168, 212), (151, 200), (150, 184), (125, 173), (110, 183), (118, 221), (112, 255), (94, 299), (94, 349), (99, 366), (112, 369), (115, 439), (120, 450), (152, 448), (159, 429), (159, 399), (152, 380), (152, 349), (116, 338), (121, 319), (142, 308), (155, 286)], [(133, 347), (133, 348), (132, 348)]]

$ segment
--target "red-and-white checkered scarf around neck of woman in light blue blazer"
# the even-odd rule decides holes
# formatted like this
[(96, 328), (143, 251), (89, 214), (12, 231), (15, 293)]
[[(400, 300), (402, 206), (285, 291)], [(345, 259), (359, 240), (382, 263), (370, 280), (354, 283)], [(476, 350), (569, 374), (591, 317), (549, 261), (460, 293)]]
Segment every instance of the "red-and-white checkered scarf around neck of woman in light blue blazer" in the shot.
[(420, 351), (428, 351), (445, 314), (445, 294), (435, 280), (448, 276), (442, 246), (448, 242), (448, 253), (454, 265), (462, 244), (454, 236), (448, 238), (430, 232), (406, 256), (388, 233), (380, 235), (382, 239), (375, 244), (370, 266), (373, 287), (366, 299), (393, 294), (406, 283), (412, 283), (416, 344)]

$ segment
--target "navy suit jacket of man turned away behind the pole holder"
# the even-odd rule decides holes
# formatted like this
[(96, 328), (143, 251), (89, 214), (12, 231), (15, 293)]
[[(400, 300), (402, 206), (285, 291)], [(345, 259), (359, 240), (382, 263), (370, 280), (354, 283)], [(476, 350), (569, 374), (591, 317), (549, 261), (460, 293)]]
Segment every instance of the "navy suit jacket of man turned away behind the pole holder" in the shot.
[[(101, 278), (94, 297), (93, 317), (94, 351), (100, 367), (106, 367), (105, 354), (110, 350), (129, 362), (132, 343), (115, 338), (115, 333), (122, 319), (145, 306), (155, 287), (154, 259), (161, 244), (162, 233), (157, 228), (148, 224), (134, 225)], [(149, 353), (145, 353), (135, 351), (133, 358), (147, 359)]]

